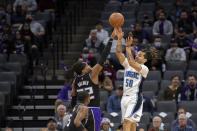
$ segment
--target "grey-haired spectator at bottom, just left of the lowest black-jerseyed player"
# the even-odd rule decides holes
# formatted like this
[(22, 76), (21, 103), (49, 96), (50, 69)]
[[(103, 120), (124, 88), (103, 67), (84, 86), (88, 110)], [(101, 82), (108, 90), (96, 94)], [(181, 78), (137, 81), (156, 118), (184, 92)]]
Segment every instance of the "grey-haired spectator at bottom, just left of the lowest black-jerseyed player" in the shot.
[(65, 117), (65, 113), (66, 113), (66, 107), (64, 105), (59, 105), (57, 107), (57, 116), (55, 117), (58, 131), (63, 130), (63, 123), (65, 123), (63, 121)]

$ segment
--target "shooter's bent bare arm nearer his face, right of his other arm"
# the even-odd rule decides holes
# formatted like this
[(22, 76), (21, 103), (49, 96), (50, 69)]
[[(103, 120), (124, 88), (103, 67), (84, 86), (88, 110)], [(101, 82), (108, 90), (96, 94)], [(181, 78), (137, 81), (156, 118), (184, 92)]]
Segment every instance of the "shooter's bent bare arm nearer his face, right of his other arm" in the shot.
[(136, 71), (140, 72), (142, 67), (139, 63), (137, 63), (135, 60), (134, 60), (134, 57), (132, 55), (132, 52), (131, 52), (131, 44), (133, 42), (133, 38), (129, 37), (127, 38), (126, 40), (126, 54), (127, 54), (127, 59), (128, 59), (128, 62), (129, 62), (129, 65), (131, 67), (133, 67)]

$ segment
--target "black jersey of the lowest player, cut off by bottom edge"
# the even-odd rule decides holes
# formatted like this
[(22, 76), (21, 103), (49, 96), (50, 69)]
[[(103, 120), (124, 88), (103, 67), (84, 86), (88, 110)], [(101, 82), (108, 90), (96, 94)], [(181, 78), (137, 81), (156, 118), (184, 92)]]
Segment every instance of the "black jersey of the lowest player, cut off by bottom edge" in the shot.
[[(70, 118), (69, 118), (69, 120), (68, 120), (68, 123), (67, 123), (67, 125), (64, 127), (64, 131), (82, 131), (82, 130), (78, 129), (78, 128), (75, 126), (75, 124), (74, 124), (74, 120), (75, 120), (75, 117), (77, 116), (77, 112), (78, 112), (80, 106), (82, 106), (82, 104), (77, 104), (77, 105), (74, 107), (73, 113), (72, 113), (72, 115), (70, 115)], [(87, 120), (88, 120), (88, 119), (85, 118), (85, 119), (83, 119), (83, 120), (81, 121), (81, 123), (84, 125), (84, 127), (85, 127), (85, 125), (86, 125), (86, 123), (87, 123)]]

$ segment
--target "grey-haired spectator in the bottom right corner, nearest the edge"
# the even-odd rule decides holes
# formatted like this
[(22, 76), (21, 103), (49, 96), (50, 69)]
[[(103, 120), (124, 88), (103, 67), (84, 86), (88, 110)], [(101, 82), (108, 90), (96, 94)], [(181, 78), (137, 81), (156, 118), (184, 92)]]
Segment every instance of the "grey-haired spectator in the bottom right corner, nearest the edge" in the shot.
[(194, 128), (187, 125), (187, 117), (185, 114), (180, 114), (178, 116), (179, 124), (172, 128), (171, 131), (195, 131)]

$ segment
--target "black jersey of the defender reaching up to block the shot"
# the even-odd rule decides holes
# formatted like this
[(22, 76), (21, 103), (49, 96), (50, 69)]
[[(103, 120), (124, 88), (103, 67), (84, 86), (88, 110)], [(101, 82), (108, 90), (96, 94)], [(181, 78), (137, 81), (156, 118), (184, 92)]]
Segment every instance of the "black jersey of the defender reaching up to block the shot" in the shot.
[(90, 73), (76, 76), (74, 81), (76, 92), (88, 91), (90, 94), (90, 104), (88, 106), (100, 107), (100, 93), (98, 85), (91, 80)]

